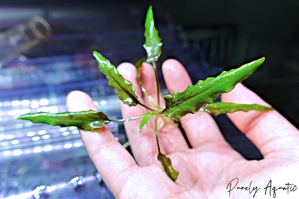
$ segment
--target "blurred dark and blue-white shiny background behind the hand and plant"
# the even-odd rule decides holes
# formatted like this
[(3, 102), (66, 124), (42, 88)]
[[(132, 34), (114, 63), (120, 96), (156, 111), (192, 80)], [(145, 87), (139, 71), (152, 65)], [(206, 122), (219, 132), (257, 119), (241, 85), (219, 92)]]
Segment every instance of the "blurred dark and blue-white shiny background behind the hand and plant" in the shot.
[[(92, 51), (116, 66), (144, 57), (149, 4), (163, 42), (159, 64), (178, 59), (196, 83), (266, 57), (244, 84), (298, 127), (298, 0), (1, 0), (0, 199), (114, 198), (76, 127), (16, 118), (66, 111), (65, 98), (73, 90), (88, 93), (110, 118), (121, 118), (118, 97)], [(245, 158), (263, 158), (226, 115), (215, 120)], [(122, 123), (109, 128), (122, 144), (127, 141)]]

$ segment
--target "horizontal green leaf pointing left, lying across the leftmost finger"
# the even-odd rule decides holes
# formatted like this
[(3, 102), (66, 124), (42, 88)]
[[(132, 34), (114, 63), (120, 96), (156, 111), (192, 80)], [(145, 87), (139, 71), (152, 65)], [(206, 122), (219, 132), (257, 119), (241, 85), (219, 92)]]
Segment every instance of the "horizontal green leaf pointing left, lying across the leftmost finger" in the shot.
[(62, 113), (28, 113), (18, 117), (18, 119), (30, 120), (34, 123), (46, 123), (51, 126), (77, 126), (82, 130), (96, 130), (108, 124), (111, 120), (101, 111), (80, 111)]

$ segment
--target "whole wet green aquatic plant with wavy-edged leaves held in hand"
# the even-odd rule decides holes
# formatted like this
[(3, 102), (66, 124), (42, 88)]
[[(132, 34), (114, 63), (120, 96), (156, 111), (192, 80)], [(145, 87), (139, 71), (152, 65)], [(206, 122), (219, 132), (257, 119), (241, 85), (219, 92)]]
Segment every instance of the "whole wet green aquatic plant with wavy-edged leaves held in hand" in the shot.
[[(154, 104), (153, 100), (149, 97), (146, 90), (144, 89), (141, 81), (141, 66), (142, 62), (148, 62), (152, 65), (155, 72), (155, 81), (157, 86), (157, 96), (159, 96), (159, 83), (157, 78), (156, 61), (161, 54), (161, 39), (158, 36), (158, 31), (154, 26), (153, 13), (151, 6), (149, 6), (146, 22), (145, 22), (145, 44), (147, 58), (141, 59), (137, 62), (136, 67), (138, 70), (138, 79), (140, 86), (145, 96), (150, 101), (150, 104), (146, 104), (139, 100), (135, 95), (135, 88), (131, 82), (124, 79), (120, 75), (114, 65), (112, 65), (105, 57), (100, 53), (94, 51), (93, 55), (99, 63), (99, 68), (106, 75), (109, 80), (109, 85), (114, 87), (116, 94), (123, 103), (129, 106), (142, 105), (149, 111), (144, 115), (139, 115), (132, 118), (124, 118), (118, 120), (109, 119), (108, 116), (102, 111), (81, 111), (81, 112), (63, 112), (63, 113), (48, 113), (48, 112), (37, 112), (28, 113), (19, 116), (19, 119), (31, 120), (35, 123), (47, 123), (49, 125), (60, 125), (60, 126), (77, 126), (80, 129), (86, 131), (92, 131), (103, 127), (109, 122), (126, 122), (133, 119), (141, 119), (140, 132), (145, 124), (149, 122), (149, 119), (155, 116), (155, 135), (158, 146), (157, 159), (163, 166), (165, 173), (173, 181), (177, 179), (178, 172), (172, 168), (171, 161), (166, 154), (162, 154), (159, 149), (158, 142), (158, 127), (157, 119), (160, 117), (164, 121), (171, 122), (175, 118), (180, 118), (187, 113), (196, 113), (197, 111), (206, 111), (210, 114), (217, 116), (221, 113), (229, 113), (234, 111), (249, 111), (249, 110), (272, 110), (272, 107), (262, 106), (258, 104), (236, 104), (230, 102), (214, 102), (213, 101), (222, 93), (228, 93), (235, 85), (242, 82), (244, 79), (252, 75), (252, 73), (264, 62), (265, 58), (258, 59), (248, 64), (242, 65), (237, 69), (230, 71), (224, 71), (215, 78), (207, 78), (204, 81), (198, 81), (193, 86), (179, 93), (174, 92), (173, 94), (164, 97), (165, 106), (160, 108), (159, 98), (157, 104)], [(169, 118), (166, 120), (165, 118)]]

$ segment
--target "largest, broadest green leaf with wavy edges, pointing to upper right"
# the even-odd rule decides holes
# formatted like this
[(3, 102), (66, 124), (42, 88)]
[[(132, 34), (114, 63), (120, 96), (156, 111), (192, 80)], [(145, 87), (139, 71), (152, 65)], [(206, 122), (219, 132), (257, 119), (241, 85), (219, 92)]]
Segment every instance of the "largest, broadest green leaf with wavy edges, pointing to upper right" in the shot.
[(204, 104), (212, 103), (220, 94), (233, 90), (235, 85), (252, 75), (265, 58), (244, 64), (237, 69), (224, 71), (215, 78), (198, 81), (182, 93), (175, 92), (165, 96), (165, 109), (162, 113), (168, 117), (180, 118), (187, 113), (197, 112)]

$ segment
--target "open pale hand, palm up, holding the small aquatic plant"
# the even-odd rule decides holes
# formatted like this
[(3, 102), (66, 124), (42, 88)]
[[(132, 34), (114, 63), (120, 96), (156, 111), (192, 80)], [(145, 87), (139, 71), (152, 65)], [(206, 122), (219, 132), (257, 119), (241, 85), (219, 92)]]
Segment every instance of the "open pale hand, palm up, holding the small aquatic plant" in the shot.
[[(139, 99), (148, 102), (136, 80), (136, 68), (123, 63), (118, 70), (133, 83)], [(191, 84), (187, 72), (175, 60), (164, 62), (162, 72), (169, 93), (181, 92)], [(142, 81), (149, 96), (156, 100), (154, 71), (149, 64), (143, 65)], [(222, 101), (268, 105), (241, 84), (223, 94)], [(67, 106), (69, 111), (96, 110), (93, 100), (78, 91), (69, 94)], [(140, 105), (121, 104), (121, 109), (124, 118), (147, 111)], [(264, 159), (248, 161), (232, 149), (209, 113), (187, 114), (180, 122), (191, 149), (177, 127), (167, 124), (158, 131), (161, 152), (170, 157), (173, 168), (179, 172), (175, 182), (168, 178), (157, 160), (155, 131), (150, 122), (141, 133), (140, 120), (124, 124), (135, 159), (107, 126), (96, 131), (80, 130), (80, 135), (103, 180), (119, 199), (243, 199), (272, 198), (274, 194), (276, 198), (298, 197), (298, 129), (275, 110), (239, 111), (228, 116), (258, 147)], [(287, 188), (288, 183), (288, 190), (279, 189)], [(277, 191), (273, 190), (274, 186)]]

